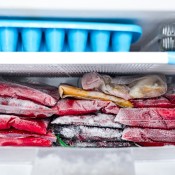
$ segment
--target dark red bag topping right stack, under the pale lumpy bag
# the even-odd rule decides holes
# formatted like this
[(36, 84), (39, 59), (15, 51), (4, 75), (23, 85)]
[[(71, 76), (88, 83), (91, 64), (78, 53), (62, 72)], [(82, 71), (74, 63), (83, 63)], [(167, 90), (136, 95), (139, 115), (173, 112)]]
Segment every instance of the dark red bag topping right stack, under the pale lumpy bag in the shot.
[(175, 104), (172, 104), (167, 98), (152, 98), (152, 99), (134, 99), (130, 100), (135, 108), (175, 108)]

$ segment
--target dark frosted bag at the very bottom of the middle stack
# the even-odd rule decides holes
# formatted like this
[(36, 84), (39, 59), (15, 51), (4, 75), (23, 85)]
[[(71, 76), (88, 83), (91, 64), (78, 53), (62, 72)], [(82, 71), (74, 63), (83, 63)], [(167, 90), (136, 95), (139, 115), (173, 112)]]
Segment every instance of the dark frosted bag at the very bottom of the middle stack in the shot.
[(97, 141), (97, 142), (80, 142), (78, 140), (64, 140), (64, 142), (71, 147), (80, 147), (80, 148), (120, 148), (120, 147), (132, 147), (135, 146), (132, 142), (106, 142), (106, 141)]

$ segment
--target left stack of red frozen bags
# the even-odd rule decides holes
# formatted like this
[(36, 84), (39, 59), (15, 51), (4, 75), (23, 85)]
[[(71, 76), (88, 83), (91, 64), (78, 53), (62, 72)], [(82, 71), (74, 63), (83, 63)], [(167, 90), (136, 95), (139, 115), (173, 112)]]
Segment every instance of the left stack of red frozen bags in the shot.
[(0, 81), (0, 146), (52, 146), (48, 130), (56, 87)]

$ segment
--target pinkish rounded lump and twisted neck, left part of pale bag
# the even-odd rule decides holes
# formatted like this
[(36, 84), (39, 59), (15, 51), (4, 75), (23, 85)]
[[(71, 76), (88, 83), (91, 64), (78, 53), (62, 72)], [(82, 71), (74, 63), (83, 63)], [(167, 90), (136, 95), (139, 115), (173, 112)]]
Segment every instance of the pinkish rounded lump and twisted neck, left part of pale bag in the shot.
[(85, 90), (98, 90), (109, 95), (130, 99), (129, 88), (112, 82), (112, 78), (107, 75), (100, 75), (95, 72), (85, 74), (81, 79), (81, 84)]

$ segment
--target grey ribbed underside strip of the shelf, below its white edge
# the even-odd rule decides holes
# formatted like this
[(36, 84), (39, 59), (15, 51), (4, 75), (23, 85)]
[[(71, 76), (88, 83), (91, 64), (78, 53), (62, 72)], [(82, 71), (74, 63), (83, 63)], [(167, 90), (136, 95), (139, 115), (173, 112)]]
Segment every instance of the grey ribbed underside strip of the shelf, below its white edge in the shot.
[(73, 76), (73, 75), (81, 75), (85, 72), (100, 72), (108, 74), (135, 74), (135, 73), (175, 74), (175, 65), (166, 65), (166, 64), (0, 65), (0, 74), (8, 74), (8, 75)]

